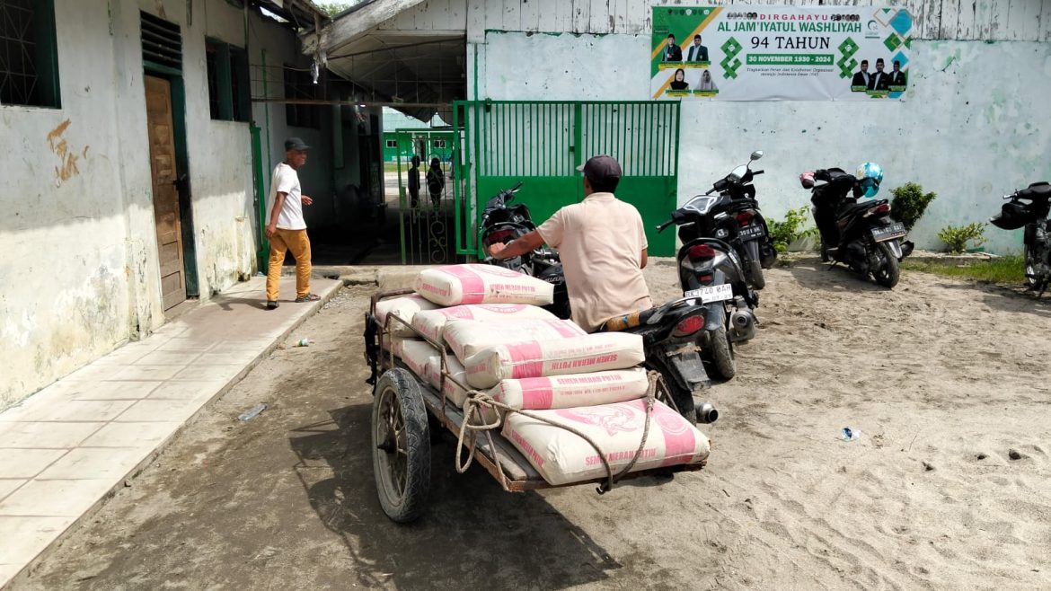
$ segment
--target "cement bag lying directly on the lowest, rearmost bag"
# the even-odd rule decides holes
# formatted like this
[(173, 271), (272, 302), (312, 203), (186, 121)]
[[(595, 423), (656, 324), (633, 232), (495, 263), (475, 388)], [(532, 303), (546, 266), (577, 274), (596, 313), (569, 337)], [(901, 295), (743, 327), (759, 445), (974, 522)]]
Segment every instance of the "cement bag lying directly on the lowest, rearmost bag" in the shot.
[(625, 402), (645, 396), (648, 388), (646, 371), (639, 368), (501, 380), (488, 393), (511, 408), (532, 410)]

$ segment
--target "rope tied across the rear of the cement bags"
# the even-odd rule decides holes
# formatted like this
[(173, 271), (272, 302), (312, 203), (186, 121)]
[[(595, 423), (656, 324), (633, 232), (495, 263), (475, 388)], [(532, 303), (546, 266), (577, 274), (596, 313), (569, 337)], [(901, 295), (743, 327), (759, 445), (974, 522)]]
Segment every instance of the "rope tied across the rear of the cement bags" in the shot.
[[(628, 462), (627, 465), (624, 466), (624, 468), (619, 472), (617, 472), (616, 474), (614, 474), (613, 467), (610, 466), (610, 460), (606, 457), (606, 454), (602, 451), (602, 448), (599, 447), (599, 445), (595, 443), (594, 440), (592, 440), (590, 436), (581, 432), (579, 429), (570, 427), (569, 425), (563, 425), (561, 423), (556, 423), (555, 421), (545, 419), (543, 416), (539, 416), (533, 412), (530, 412), (529, 410), (522, 410), (520, 408), (512, 408), (501, 402), (493, 400), (493, 398), (490, 396), (489, 394), (480, 392), (478, 390), (469, 390), (468, 398), (463, 402), (463, 422), (460, 424), (459, 436), (456, 442), (456, 471), (462, 474), (465, 471), (467, 471), (468, 468), (471, 467), (471, 463), (474, 461), (477, 435), (472, 436), (470, 441), (467, 443), (467, 445), (465, 445), (463, 440), (467, 436), (468, 431), (472, 432), (485, 431), (486, 441), (489, 443), (489, 448), (493, 450), (495, 458), (497, 451), (496, 447), (493, 445), (491, 431), (499, 427), (502, 421), (499, 416), (499, 413), (497, 413), (496, 419), (492, 423), (488, 423), (486, 421), (485, 414), (482, 413), (482, 410), (485, 408), (492, 408), (494, 410), (517, 412), (534, 421), (539, 421), (540, 423), (551, 425), (552, 427), (558, 427), (559, 429), (564, 429), (573, 433), (574, 435), (577, 435), (578, 437), (582, 439), (584, 442), (586, 442), (588, 445), (592, 446), (592, 448), (598, 454), (599, 460), (602, 461), (602, 466), (605, 468), (605, 474), (606, 474), (605, 481), (602, 484), (600, 484), (596, 489), (599, 494), (605, 494), (607, 491), (613, 489), (613, 485), (618, 483), (628, 472), (632, 471), (632, 468), (635, 467), (635, 464), (638, 462), (639, 456), (642, 455), (642, 450), (645, 449), (646, 446), (646, 440), (650, 437), (650, 422), (653, 419), (654, 403), (657, 401), (657, 388), (658, 386), (660, 386), (663, 390), (664, 379), (661, 376), (659, 372), (653, 370), (646, 372), (646, 378), (650, 381), (650, 387), (646, 388), (646, 396), (645, 396), (646, 417), (642, 427), (642, 440), (639, 442), (639, 447), (638, 449), (635, 450), (635, 454), (632, 456), (632, 461)], [(477, 421), (474, 421), (475, 417), (477, 417)], [(467, 462), (461, 462), (462, 450), (465, 447), (468, 450)], [(499, 463), (497, 462), (497, 465)], [(500, 486), (507, 489), (507, 477), (503, 474), (503, 469), (500, 468), (498, 471), (500, 474)]]

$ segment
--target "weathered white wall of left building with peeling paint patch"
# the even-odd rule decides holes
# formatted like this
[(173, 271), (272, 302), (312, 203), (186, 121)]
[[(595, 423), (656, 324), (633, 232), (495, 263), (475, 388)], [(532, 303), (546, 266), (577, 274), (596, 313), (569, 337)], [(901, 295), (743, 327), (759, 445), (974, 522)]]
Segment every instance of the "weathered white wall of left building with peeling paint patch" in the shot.
[[(249, 124), (210, 119), (204, 47), (206, 35), (244, 46), (245, 14), (221, 0), (55, 0), (62, 107), (0, 105), (0, 409), (165, 321), (140, 9), (182, 27), (202, 299), (255, 270)], [(251, 20), (276, 63), (300, 59), (288, 29)], [(275, 125), (271, 149), (283, 135)]]

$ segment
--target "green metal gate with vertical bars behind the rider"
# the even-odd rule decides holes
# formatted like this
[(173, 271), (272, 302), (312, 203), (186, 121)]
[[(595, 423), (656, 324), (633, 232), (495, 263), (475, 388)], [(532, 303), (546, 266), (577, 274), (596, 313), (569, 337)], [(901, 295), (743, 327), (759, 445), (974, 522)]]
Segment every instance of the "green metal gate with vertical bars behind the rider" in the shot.
[(496, 192), (522, 181), (515, 199), (539, 224), (583, 199), (576, 167), (606, 154), (620, 162), (617, 197), (642, 215), (650, 253), (675, 254), (674, 232), (655, 226), (677, 203), (678, 101), (458, 101), (453, 127), (460, 125), (455, 154), (468, 170), (454, 195), (457, 253), (481, 254), (478, 219)]

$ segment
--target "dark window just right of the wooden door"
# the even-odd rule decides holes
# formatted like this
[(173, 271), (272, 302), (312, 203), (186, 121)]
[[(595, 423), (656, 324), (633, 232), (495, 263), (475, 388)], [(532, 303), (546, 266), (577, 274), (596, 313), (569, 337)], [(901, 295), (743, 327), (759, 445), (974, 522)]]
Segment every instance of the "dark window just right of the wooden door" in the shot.
[(211, 118), (223, 121), (251, 121), (252, 104), (248, 84), (248, 55), (241, 47), (208, 39), (208, 106)]

